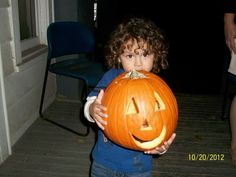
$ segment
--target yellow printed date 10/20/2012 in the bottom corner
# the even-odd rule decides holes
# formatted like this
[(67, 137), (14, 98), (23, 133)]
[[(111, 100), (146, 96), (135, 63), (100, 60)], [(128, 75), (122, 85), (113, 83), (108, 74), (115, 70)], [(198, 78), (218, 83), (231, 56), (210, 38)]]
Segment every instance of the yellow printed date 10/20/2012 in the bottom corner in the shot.
[(225, 158), (224, 154), (218, 153), (193, 153), (188, 154), (188, 160), (191, 161), (223, 161)]

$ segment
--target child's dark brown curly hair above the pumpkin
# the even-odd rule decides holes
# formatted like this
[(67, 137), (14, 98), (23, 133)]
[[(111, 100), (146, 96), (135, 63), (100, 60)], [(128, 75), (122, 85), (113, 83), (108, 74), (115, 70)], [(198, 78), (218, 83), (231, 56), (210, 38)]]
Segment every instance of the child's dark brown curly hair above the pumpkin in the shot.
[(129, 40), (147, 43), (148, 51), (155, 57), (152, 72), (158, 73), (160, 69), (167, 68), (168, 45), (164, 35), (152, 21), (143, 18), (130, 18), (113, 31), (105, 46), (108, 67), (121, 67), (118, 58), (124, 52), (125, 44)]

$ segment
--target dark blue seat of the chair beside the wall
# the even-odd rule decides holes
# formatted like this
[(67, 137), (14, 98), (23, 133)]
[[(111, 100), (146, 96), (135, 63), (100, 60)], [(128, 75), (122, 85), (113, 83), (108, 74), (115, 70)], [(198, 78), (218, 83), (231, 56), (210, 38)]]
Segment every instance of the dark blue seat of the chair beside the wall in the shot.
[(64, 76), (83, 79), (90, 87), (96, 86), (105, 72), (102, 63), (88, 59), (70, 59), (51, 64), (49, 71)]

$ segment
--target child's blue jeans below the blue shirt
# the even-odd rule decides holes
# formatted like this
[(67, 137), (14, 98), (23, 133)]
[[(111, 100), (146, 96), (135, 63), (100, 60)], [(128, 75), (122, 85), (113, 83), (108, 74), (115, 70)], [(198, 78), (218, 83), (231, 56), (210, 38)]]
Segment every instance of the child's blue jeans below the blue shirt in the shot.
[(91, 177), (151, 177), (151, 172), (124, 173), (106, 168), (93, 161), (91, 167)]

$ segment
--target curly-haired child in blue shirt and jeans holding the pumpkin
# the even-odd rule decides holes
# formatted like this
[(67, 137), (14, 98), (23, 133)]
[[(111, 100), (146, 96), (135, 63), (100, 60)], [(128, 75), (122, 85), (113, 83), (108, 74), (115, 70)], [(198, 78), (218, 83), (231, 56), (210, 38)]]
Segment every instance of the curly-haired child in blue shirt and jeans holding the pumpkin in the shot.
[[(99, 81), (97, 87), (106, 87), (113, 78), (124, 71), (145, 70), (157, 73), (167, 67), (168, 48), (161, 31), (146, 19), (131, 18), (124, 21), (111, 34), (105, 48), (105, 57), (111, 68)], [(175, 133), (161, 147), (145, 152), (134, 151), (114, 144), (105, 137), (102, 130), (108, 115), (101, 104), (104, 91), (92, 91), (85, 104), (86, 118), (101, 129), (93, 148), (91, 177), (150, 177), (152, 155), (164, 154), (175, 138)]]

